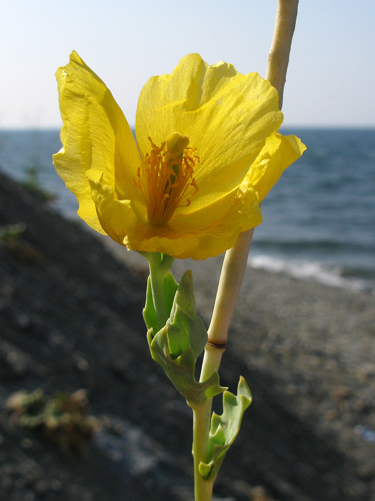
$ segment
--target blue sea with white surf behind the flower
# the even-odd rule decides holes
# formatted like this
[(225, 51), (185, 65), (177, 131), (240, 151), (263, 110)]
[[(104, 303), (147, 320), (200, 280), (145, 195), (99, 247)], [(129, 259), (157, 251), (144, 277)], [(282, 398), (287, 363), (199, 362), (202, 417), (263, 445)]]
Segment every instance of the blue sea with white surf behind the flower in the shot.
[[(248, 266), (375, 294), (375, 129), (283, 128), (307, 146), (262, 202)], [(58, 130), (0, 130), (0, 170), (37, 182), (76, 218), (51, 156)]]

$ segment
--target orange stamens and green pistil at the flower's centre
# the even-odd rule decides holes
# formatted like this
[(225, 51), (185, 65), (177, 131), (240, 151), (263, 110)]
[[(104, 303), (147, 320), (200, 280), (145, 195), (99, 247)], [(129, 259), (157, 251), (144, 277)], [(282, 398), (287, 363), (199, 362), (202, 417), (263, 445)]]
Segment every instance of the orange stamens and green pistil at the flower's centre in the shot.
[(190, 205), (198, 189), (193, 177), (199, 157), (188, 148), (187, 136), (173, 132), (160, 147), (151, 143), (144, 163), (137, 169), (135, 186), (147, 204), (147, 218), (153, 226), (165, 226), (177, 207)]

